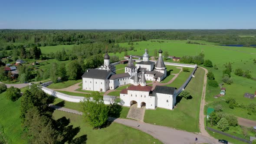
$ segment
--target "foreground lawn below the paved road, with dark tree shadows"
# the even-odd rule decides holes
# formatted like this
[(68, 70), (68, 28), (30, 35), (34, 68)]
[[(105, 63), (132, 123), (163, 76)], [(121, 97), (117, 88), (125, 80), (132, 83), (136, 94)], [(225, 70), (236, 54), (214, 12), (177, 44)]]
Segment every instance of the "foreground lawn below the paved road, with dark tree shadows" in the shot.
[[(161, 144), (159, 140), (154, 139), (151, 135), (122, 124), (112, 123), (107, 128), (94, 130), (88, 122), (85, 122), (82, 115), (56, 110), (53, 116), (56, 119), (65, 116), (70, 119), (70, 125), (80, 127), (80, 131), (75, 137), (86, 134), (87, 144)], [(97, 138), (99, 136), (100, 138)]]

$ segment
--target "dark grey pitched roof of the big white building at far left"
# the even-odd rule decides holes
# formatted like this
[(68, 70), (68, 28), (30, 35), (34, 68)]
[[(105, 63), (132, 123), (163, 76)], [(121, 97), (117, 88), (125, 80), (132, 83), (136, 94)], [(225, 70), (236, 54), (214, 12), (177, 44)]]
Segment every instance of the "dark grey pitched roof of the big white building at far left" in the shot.
[(91, 79), (108, 79), (108, 75), (112, 71), (102, 70), (102, 69), (88, 69), (88, 72), (86, 71), (82, 78), (91, 78)]

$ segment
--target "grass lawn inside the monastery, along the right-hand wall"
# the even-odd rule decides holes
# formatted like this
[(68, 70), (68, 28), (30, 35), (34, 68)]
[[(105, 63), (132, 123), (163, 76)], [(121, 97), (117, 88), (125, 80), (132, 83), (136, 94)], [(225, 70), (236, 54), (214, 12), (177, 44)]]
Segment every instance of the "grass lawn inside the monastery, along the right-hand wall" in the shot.
[[(193, 71), (193, 68), (188, 68), (190, 70), (190, 72), (181, 72), (178, 77), (171, 83), (165, 86), (170, 86), (170, 87), (175, 87), (175, 88), (180, 88), (181, 85), (184, 84), (184, 82), (186, 82), (187, 78), (189, 77), (189, 75), (191, 74), (191, 72)], [(172, 76), (170, 77), (172, 78)], [(170, 78), (166, 78), (167, 80)], [(166, 82), (167, 80), (164, 79), (164, 82)], [(171, 80), (171, 79), (170, 79)], [(169, 80), (169, 81), (170, 81)], [(167, 81), (167, 82), (169, 82)]]

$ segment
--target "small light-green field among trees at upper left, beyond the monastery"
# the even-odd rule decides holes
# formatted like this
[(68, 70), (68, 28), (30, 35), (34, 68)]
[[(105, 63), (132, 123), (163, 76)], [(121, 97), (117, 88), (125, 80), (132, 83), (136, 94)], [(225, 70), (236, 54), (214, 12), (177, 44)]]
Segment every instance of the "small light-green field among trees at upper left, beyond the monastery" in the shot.
[(58, 46), (40, 46), (41, 52), (43, 54), (50, 53), (50, 52), (57, 52), (58, 50), (61, 51), (62, 49), (65, 49), (65, 51), (69, 51), (72, 49), (74, 45), (58, 45)]

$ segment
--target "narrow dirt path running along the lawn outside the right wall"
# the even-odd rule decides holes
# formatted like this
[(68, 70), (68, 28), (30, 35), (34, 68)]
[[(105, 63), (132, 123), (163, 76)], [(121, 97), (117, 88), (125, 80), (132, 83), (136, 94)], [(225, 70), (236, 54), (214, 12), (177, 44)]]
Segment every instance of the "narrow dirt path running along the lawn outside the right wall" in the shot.
[[(200, 66), (198, 66), (200, 67)], [(202, 91), (202, 98), (201, 98), (201, 103), (200, 103), (200, 113), (199, 113), (199, 128), (200, 128), (200, 131), (201, 131), (201, 134), (206, 136), (206, 137), (211, 137), (210, 134), (207, 133), (207, 131), (205, 130), (205, 125), (204, 125), (204, 118), (205, 118), (205, 115), (203, 114), (203, 108), (204, 108), (204, 105), (205, 105), (205, 92), (206, 92), (206, 82), (207, 82), (207, 73), (208, 73), (208, 70), (203, 68), (203, 67), (200, 67), (204, 70), (204, 79), (203, 79), (203, 91)]]

